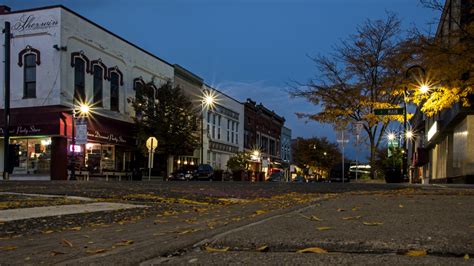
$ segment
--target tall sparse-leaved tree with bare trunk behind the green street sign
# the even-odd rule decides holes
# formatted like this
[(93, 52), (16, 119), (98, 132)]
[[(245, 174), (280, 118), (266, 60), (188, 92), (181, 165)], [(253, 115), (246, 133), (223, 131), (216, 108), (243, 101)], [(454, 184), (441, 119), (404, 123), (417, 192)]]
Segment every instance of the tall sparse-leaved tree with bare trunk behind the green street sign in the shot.
[(305, 83), (295, 82), (290, 89), (291, 96), (305, 98), (320, 108), (317, 113), (297, 113), (300, 118), (333, 125), (363, 122), (373, 166), (387, 125), (403, 120), (402, 116), (377, 116), (373, 112), (403, 106), (400, 85), (411, 56), (400, 49), (401, 39), (400, 21), (394, 14), (388, 13), (383, 20), (367, 20), (333, 53), (312, 58), (316, 76)]

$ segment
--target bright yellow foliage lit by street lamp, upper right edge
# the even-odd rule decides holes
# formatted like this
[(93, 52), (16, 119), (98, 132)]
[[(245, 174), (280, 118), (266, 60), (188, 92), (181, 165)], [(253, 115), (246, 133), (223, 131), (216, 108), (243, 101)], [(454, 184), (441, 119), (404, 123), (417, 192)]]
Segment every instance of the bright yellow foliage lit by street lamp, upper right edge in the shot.
[[(421, 0), (427, 8), (440, 12), (435, 36), (414, 30), (410, 45), (417, 49), (417, 60), (427, 70), (424, 78), (412, 82), (413, 102), (433, 116), (461, 103), (472, 105), (474, 82), (474, 4), (472, 1)], [(419, 84), (430, 86), (428, 93), (417, 90)]]

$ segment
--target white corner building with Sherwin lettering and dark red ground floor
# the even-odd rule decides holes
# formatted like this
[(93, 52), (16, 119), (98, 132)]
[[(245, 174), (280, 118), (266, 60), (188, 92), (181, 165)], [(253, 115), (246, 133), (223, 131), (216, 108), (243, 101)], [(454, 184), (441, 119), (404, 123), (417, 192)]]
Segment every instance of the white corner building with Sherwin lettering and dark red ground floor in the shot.
[[(135, 146), (127, 99), (139, 83), (172, 81), (173, 66), (63, 6), (4, 9), (5, 21), (13, 35), (10, 144), (20, 153), (13, 175), (66, 179), (72, 150), (80, 168), (127, 170)], [(87, 119), (87, 144), (71, 147), (72, 109), (80, 102), (94, 107), (94, 119)], [(3, 142), (0, 149), (2, 157)]]

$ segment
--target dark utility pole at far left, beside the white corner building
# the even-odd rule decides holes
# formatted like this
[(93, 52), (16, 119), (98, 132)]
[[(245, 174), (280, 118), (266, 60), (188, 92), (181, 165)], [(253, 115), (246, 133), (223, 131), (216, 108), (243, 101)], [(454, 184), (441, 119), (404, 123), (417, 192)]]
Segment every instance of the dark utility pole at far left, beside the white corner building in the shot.
[(8, 170), (10, 169), (10, 22), (5, 21), (5, 108), (3, 129), (3, 180), (9, 180)]

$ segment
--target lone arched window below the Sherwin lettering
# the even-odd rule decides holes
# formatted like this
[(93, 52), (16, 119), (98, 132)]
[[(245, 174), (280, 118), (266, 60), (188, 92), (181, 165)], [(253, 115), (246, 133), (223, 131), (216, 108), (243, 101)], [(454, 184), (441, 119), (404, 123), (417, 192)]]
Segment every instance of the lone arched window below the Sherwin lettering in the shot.
[(18, 66), (23, 67), (23, 98), (36, 98), (36, 66), (41, 64), (40, 51), (27, 45), (18, 54)]

